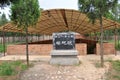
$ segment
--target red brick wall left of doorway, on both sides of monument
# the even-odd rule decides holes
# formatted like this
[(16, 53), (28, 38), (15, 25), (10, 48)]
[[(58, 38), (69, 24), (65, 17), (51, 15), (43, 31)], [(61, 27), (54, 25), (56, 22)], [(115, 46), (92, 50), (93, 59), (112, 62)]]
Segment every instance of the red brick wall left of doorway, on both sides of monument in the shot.
[[(50, 55), (50, 51), (53, 49), (52, 44), (31, 44), (29, 45), (30, 55)], [(76, 49), (79, 55), (86, 55), (86, 44), (76, 44)], [(25, 55), (25, 45), (9, 45), (7, 46), (8, 55)]]

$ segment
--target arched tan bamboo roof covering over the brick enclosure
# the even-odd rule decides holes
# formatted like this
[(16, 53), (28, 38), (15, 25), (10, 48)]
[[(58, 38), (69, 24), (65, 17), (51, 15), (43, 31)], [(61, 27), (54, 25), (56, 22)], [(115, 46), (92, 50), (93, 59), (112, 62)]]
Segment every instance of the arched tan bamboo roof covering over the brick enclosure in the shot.
[[(120, 28), (120, 23), (103, 17), (103, 29)], [(24, 32), (12, 23), (8, 23), (0, 30), (10, 32)], [(54, 32), (73, 31), (80, 34), (100, 31), (100, 22), (93, 25), (86, 14), (72, 9), (50, 9), (41, 12), (39, 21), (34, 27), (28, 28), (29, 33), (52, 34)]]

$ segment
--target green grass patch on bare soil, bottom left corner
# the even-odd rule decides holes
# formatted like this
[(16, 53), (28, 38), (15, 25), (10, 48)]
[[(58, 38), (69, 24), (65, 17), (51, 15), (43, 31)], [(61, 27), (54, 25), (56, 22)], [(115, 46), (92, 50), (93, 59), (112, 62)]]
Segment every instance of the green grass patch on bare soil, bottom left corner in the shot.
[(24, 61), (2, 61), (0, 63), (0, 80), (19, 80), (19, 73), (27, 68)]

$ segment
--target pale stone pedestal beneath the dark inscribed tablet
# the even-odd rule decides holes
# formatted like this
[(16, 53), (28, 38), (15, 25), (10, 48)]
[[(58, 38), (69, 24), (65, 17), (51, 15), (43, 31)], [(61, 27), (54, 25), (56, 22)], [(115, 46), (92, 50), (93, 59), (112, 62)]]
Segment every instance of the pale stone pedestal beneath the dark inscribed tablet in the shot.
[(77, 50), (52, 50), (50, 64), (77, 65), (79, 64), (77, 54)]

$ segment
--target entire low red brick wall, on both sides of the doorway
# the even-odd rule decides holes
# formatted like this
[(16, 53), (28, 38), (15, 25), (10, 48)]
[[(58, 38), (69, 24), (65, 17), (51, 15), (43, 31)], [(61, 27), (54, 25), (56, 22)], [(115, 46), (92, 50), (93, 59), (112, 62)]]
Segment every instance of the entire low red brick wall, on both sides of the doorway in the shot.
[[(80, 43), (76, 44), (76, 50), (78, 50), (78, 55), (87, 55), (87, 44)], [(25, 45), (9, 45), (7, 46), (8, 55), (25, 55), (26, 53)], [(30, 55), (50, 55), (51, 50), (53, 49), (52, 44), (29, 44), (29, 54)], [(100, 53), (100, 45), (96, 44), (96, 50), (94, 54)], [(114, 54), (115, 48), (112, 43), (104, 43), (104, 53), (105, 54)]]

